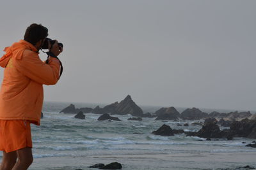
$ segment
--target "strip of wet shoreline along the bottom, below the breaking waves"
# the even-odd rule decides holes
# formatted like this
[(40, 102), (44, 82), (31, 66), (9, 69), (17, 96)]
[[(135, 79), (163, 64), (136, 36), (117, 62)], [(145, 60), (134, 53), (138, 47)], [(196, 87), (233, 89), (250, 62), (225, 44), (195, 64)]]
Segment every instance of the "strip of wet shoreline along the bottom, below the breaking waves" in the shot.
[[(122, 169), (221, 169), (241, 166), (256, 167), (255, 152), (227, 153), (167, 153), (167, 154), (125, 154), (89, 155), (85, 157), (36, 158), (32, 169), (92, 169), (93, 164), (119, 162)], [(49, 167), (45, 167), (45, 165)]]

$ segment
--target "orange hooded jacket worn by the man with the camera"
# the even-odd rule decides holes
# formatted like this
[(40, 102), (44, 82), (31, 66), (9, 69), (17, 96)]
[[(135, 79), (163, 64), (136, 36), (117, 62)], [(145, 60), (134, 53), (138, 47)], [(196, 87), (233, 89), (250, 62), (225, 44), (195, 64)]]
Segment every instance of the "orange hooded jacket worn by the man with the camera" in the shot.
[(20, 40), (4, 49), (0, 66), (5, 67), (0, 91), (0, 120), (29, 120), (40, 125), (43, 84), (54, 85), (60, 74), (60, 62), (51, 58), (45, 64), (35, 46)]

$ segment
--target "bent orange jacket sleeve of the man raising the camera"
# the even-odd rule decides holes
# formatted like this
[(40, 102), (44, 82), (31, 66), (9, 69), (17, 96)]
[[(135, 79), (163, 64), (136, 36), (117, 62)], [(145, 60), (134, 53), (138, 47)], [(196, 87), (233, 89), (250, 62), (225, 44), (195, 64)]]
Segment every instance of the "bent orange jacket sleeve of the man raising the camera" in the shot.
[(60, 62), (58, 59), (50, 57), (49, 63), (45, 64), (40, 60), (37, 53), (26, 50), (22, 59), (15, 60), (15, 67), (24, 76), (44, 85), (56, 84), (60, 75)]

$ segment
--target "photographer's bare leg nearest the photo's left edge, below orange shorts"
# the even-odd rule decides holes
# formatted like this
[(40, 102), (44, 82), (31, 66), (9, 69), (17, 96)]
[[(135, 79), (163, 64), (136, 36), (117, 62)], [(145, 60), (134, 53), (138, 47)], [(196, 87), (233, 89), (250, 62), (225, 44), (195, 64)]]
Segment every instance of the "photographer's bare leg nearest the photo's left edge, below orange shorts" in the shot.
[(17, 160), (17, 153), (15, 151), (6, 153), (3, 151), (3, 160), (0, 170), (11, 170)]

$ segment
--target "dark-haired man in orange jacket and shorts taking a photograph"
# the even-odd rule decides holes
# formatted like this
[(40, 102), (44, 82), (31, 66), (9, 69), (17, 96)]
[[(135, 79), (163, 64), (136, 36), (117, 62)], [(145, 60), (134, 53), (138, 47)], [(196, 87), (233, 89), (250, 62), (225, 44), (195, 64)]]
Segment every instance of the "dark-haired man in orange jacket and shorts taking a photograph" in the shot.
[(0, 59), (4, 77), (0, 90), (0, 150), (3, 159), (0, 170), (23, 170), (33, 162), (30, 124), (40, 125), (43, 105), (43, 85), (54, 85), (60, 74), (58, 56), (63, 48), (58, 41), (48, 42), (47, 63), (38, 51), (48, 36), (41, 24), (31, 24), (24, 39), (6, 47)]

